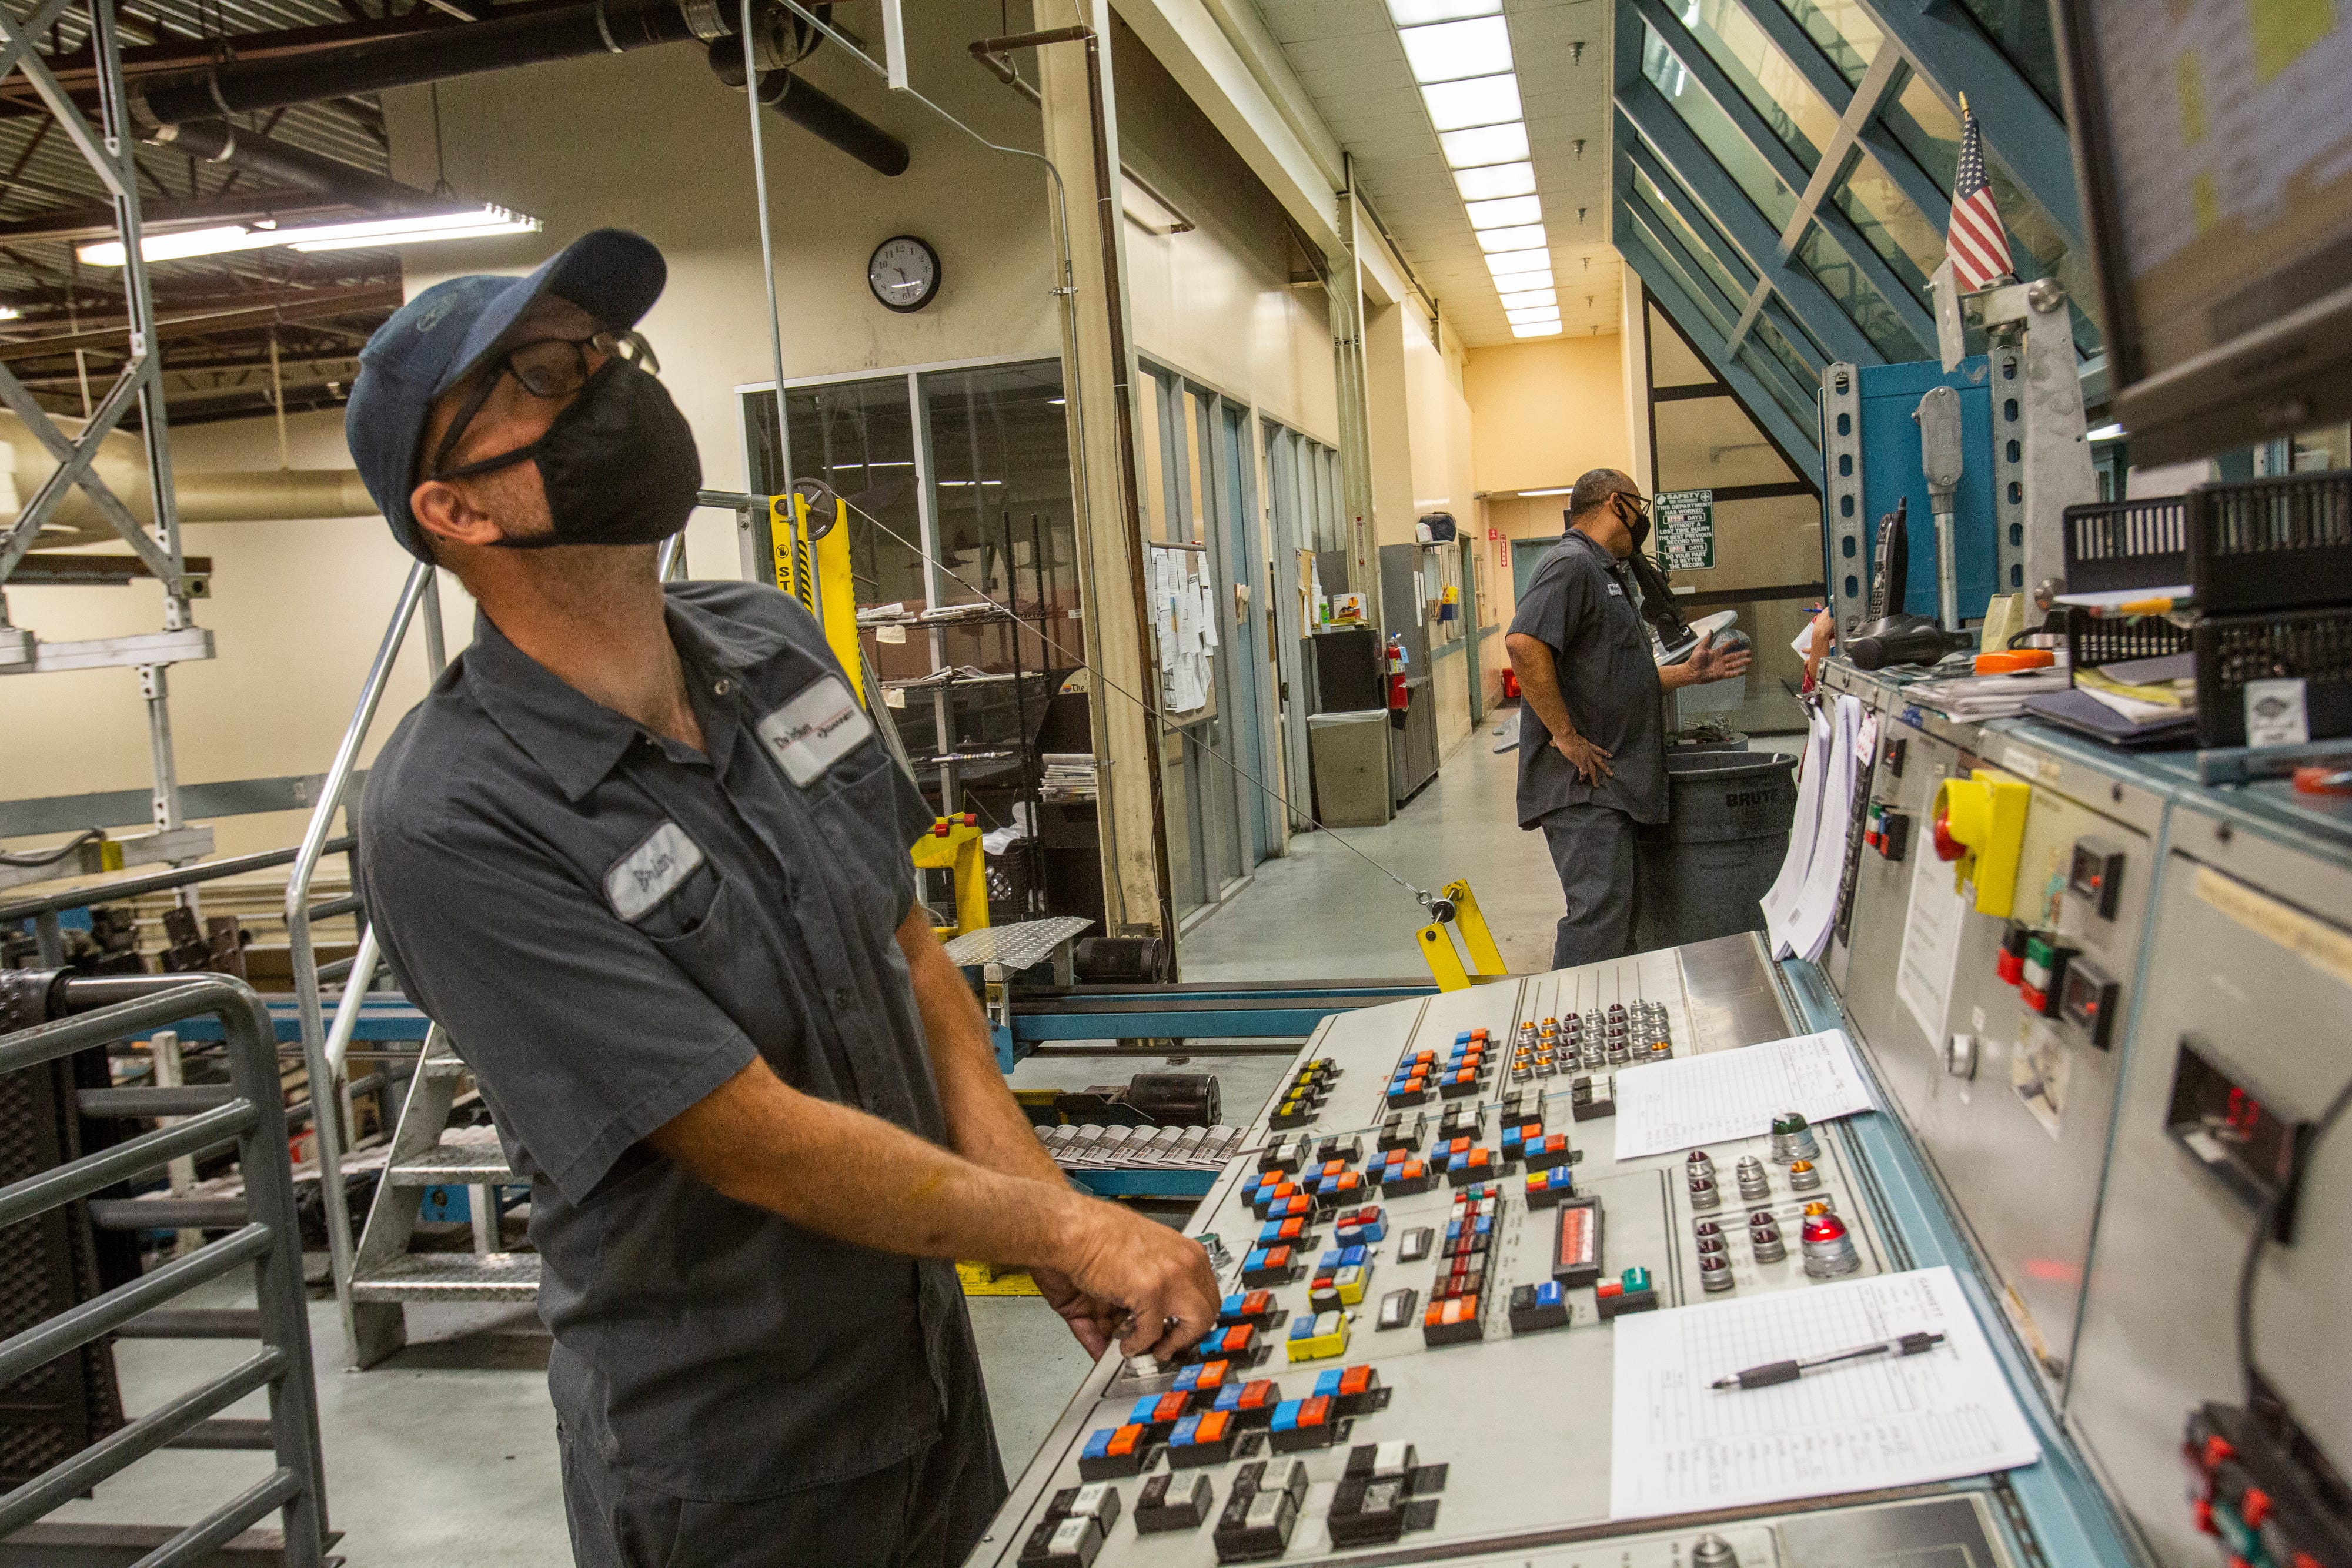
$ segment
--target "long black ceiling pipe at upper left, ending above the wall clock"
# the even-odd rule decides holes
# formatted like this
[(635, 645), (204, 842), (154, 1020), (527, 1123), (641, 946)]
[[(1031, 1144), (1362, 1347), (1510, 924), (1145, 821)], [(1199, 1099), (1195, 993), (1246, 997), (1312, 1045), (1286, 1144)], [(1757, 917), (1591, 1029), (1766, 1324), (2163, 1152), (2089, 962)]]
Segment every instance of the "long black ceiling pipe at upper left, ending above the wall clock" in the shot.
[[(520, 16), (487, 16), (456, 28), (435, 26), (402, 38), (372, 38), (287, 59), (228, 59), (134, 82), (132, 106), (153, 125), (191, 125), (386, 87), (423, 87), (508, 66), (628, 54), (687, 40), (708, 45), (731, 38), (729, 16), (731, 9), (722, 0), (593, 0)], [(786, 12), (764, 7), (753, 40), (753, 59), (762, 71), (786, 63)], [(736, 54), (741, 56), (741, 49)], [(769, 99), (767, 75), (762, 75), (762, 101), (774, 101), (793, 125), (877, 174), (906, 169), (906, 143), (880, 125), (800, 78), (779, 82), (776, 99)]]

